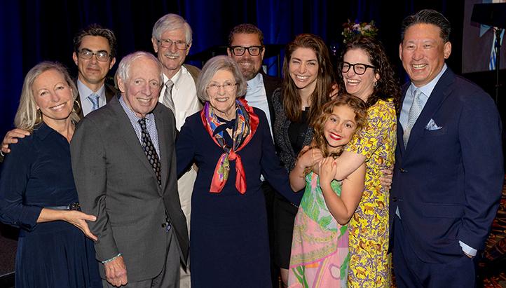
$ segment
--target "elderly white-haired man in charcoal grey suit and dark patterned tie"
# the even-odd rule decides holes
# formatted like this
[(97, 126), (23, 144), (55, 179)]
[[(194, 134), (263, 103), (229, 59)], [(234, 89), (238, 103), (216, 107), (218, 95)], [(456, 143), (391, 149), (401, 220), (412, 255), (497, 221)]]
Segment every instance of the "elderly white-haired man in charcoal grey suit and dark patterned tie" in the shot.
[(71, 142), (72, 169), (104, 287), (179, 287), (188, 231), (177, 194), (175, 118), (158, 103), (162, 66), (144, 52), (121, 60), (120, 97), (86, 116)]

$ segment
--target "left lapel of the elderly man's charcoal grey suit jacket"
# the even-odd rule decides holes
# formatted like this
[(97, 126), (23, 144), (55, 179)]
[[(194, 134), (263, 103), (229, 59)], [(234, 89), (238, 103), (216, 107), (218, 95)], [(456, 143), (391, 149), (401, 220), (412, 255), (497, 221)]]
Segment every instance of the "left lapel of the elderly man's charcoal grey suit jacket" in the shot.
[(120, 130), (120, 134), (122, 135), (126, 146), (132, 150), (132, 155), (139, 158), (139, 161), (141, 161), (149, 173), (153, 174), (153, 179), (156, 181), (156, 174), (153, 170), (153, 167), (151, 167), (151, 164), (149, 164), (148, 158), (146, 158), (146, 154), (144, 154), (144, 150), (142, 150), (139, 138), (135, 134), (135, 130), (132, 128), (130, 119), (123, 110), (123, 107), (121, 107), (118, 98), (114, 97), (111, 102), (109, 102), (109, 105), (111, 105), (111, 109), (113, 109), (113, 111), (116, 113), (118, 130)]

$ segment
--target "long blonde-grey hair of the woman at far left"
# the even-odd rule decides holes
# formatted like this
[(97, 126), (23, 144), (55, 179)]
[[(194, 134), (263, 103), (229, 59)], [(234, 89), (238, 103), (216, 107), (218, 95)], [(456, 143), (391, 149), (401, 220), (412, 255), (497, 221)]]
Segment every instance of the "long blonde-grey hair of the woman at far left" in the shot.
[[(74, 80), (72, 80), (70, 77), (67, 68), (58, 62), (45, 61), (36, 64), (32, 69), (30, 69), (30, 71), (28, 71), (27, 76), (25, 76), (25, 81), (23, 81), (23, 88), (21, 90), (20, 96), (20, 106), (18, 107), (18, 111), (14, 117), (14, 125), (16, 128), (33, 131), (35, 125), (39, 124), (37, 123), (37, 104), (35, 102), (32, 86), (34, 85), (36, 78), (48, 70), (55, 70), (62, 74), (65, 82), (67, 82), (72, 90), (72, 100), (76, 100), (78, 90), (76, 83), (74, 83)], [(72, 109), (70, 117), (74, 122), (79, 121), (79, 116), (77, 115), (76, 111), (74, 111), (74, 109)]]

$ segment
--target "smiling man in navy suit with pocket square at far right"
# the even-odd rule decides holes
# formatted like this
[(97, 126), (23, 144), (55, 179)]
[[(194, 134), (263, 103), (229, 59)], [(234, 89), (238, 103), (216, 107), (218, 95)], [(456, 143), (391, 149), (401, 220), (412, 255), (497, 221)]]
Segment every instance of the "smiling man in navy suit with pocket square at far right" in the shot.
[(474, 287), (474, 256), (501, 195), (500, 117), (486, 92), (446, 67), (450, 30), (432, 10), (402, 23), (399, 56), (411, 81), (390, 193), (398, 287)]

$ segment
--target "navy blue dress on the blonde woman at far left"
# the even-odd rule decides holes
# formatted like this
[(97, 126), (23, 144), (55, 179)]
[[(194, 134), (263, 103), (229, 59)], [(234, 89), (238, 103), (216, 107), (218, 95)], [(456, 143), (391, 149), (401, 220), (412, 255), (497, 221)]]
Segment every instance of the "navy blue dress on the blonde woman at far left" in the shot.
[(20, 228), (16, 287), (102, 287), (93, 241), (65, 221), (36, 223), (42, 207), (78, 202), (67, 139), (43, 123), (10, 148), (0, 220)]

